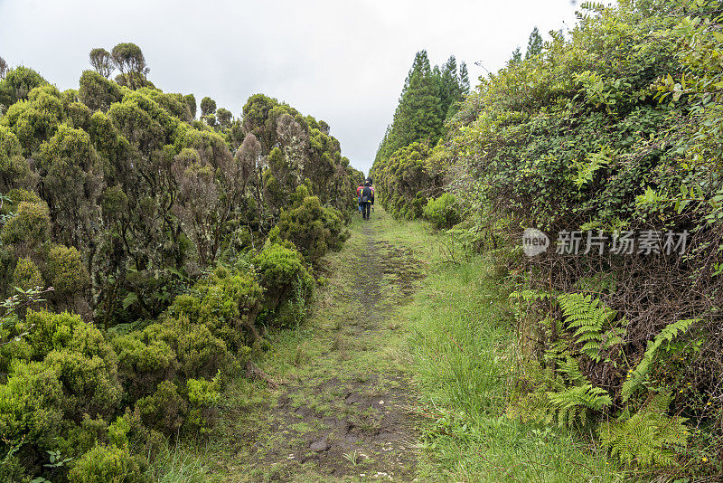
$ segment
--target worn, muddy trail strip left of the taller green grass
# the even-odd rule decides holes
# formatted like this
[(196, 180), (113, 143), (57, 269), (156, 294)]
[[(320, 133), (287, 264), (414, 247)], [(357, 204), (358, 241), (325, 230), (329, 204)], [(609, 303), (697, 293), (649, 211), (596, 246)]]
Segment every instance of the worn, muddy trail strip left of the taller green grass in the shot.
[(415, 480), (416, 393), (397, 310), (422, 271), (411, 249), (385, 241), (393, 226), (377, 210), (325, 258), (312, 317), (270, 337), (264, 370), (279, 388), (231, 388), (212, 435), (213, 480)]

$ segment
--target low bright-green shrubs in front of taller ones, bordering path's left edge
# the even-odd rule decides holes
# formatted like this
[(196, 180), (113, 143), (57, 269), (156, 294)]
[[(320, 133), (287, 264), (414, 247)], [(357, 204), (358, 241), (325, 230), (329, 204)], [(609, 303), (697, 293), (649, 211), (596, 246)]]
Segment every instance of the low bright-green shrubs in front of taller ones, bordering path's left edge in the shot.
[[(308, 200), (302, 211), (316, 206)], [(47, 252), (46, 277), (87, 275), (74, 271), (73, 249)], [(21, 259), (14, 274), (26, 287), (42, 286), (33, 260)], [(82, 278), (63, 281), (72, 287), (60, 289), (82, 288)], [(0, 480), (146, 481), (146, 456), (169, 436), (211, 429), (224, 385), (266, 347), (261, 327), (302, 320), (314, 283), (304, 255), (277, 236), (232, 266), (219, 265), (161, 317), (125, 334), (45, 308), (6, 315)], [(69, 460), (45, 467), (49, 451)]]

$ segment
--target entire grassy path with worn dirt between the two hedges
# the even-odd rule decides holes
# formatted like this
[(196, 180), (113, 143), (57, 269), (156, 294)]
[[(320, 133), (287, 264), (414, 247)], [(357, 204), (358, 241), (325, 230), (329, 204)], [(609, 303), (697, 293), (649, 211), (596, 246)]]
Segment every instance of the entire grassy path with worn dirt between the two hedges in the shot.
[(584, 434), (505, 415), (525, 366), (490, 260), (381, 210), (351, 229), (309, 320), (269, 336), (278, 389), (239, 378), (182, 451), (199, 478), (162, 481), (624, 479)]

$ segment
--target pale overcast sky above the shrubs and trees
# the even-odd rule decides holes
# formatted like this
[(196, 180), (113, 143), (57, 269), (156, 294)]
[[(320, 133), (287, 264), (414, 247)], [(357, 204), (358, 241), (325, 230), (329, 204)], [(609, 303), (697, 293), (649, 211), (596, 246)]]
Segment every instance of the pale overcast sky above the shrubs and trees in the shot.
[[(534, 26), (572, 28), (571, 0), (0, 0), (0, 56), (78, 88), (93, 47), (137, 43), (166, 92), (211, 96), (239, 117), (263, 92), (324, 119), (371, 167), (415, 52), (467, 62), (473, 87)], [(475, 65), (479, 62), (481, 66)], [(484, 67), (482, 67), (484, 66)]]

